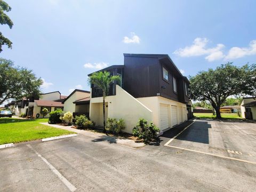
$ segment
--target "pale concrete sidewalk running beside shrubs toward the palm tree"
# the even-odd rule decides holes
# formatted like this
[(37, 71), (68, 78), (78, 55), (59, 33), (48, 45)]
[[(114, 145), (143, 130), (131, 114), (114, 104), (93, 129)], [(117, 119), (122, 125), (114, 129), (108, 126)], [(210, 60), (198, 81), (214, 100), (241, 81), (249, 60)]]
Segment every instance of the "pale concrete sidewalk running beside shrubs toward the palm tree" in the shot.
[(141, 147), (145, 146), (144, 143), (137, 143), (137, 142), (135, 142), (133, 140), (130, 140), (130, 139), (125, 139), (125, 138), (120, 139), (120, 138), (108, 136), (104, 133), (94, 133), (94, 132), (91, 132), (91, 131), (74, 129), (71, 126), (62, 126), (62, 125), (55, 125), (55, 124), (49, 124), (49, 123), (41, 123), (41, 124), (56, 127), (56, 128), (67, 130), (67, 131), (73, 131), (73, 132), (76, 132), (78, 134), (85, 135), (87, 137), (95, 138), (95, 140), (97, 139), (97, 140), (102, 140), (102, 141), (108, 141), (110, 143), (116, 143), (116, 144), (125, 145), (125, 146), (128, 146), (128, 147), (141, 148)]

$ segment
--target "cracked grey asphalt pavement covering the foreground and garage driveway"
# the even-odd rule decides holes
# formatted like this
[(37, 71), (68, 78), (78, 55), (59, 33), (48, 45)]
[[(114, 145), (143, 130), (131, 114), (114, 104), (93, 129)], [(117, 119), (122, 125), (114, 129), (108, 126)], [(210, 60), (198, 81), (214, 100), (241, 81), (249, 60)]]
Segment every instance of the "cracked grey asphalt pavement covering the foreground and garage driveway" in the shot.
[[(202, 122), (195, 122), (169, 145), (256, 162), (254, 156), (214, 149), (239, 142), (234, 146), (253, 155), (256, 124)], [(187, 124), (165, 133), (159, 145), (140, 149), (85, 135), (2, 149), (0, 190), (70, 191), (37, 151), (76, 191), (255, 191), (255, 164), (164, 146)]]

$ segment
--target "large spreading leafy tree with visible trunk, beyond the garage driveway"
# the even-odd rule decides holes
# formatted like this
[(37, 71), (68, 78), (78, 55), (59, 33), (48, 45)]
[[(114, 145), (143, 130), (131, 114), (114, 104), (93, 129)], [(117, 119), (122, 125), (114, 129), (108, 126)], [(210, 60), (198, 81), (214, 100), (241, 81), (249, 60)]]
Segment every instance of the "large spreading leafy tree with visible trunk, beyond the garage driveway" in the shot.
[[(231, 62), (190, 77), (190, 99), (208, 100), (221, 118), (220, 107), (231, 95), (255, 94), (255, 65), (237, 67)], [(253, 87), (254, 86), (254, 87)]]

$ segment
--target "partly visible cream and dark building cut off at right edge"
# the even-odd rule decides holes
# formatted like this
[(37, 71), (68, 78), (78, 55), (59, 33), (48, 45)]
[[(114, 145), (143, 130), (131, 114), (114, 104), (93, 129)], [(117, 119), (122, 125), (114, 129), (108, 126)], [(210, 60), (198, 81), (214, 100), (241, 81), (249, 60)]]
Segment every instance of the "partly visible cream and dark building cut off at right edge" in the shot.
[(241, 103), (242, 117), (246, 119), (256, 120), (256, 98), (243, 98)]

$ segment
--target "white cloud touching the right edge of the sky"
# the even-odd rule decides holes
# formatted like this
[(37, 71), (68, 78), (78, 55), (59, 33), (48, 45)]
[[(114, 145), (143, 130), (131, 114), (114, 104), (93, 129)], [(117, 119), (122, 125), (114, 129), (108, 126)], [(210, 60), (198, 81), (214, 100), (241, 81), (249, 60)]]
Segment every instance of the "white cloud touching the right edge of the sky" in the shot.
[(251, 41), (249, 47), (232, 47), (225, 59), (237, 59), (254, 54), (256, 54), (256, 40)]

